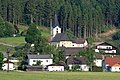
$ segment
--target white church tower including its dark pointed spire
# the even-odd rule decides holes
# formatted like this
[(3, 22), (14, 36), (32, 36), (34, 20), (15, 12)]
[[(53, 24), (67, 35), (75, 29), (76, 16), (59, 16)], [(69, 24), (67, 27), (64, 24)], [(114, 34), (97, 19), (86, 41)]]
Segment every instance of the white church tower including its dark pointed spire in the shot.
[(57, 15), (55, 14), (54, 20), (51, 26), (51, 35), (52, 38), (55, 37), (56, 34), (61, 33), (61, 28), (59, 26)]

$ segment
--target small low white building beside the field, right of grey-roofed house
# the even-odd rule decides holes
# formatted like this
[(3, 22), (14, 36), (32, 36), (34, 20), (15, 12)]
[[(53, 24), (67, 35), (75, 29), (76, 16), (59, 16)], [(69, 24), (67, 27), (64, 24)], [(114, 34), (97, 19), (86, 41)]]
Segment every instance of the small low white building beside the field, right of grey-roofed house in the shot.
[(64, 71), (64, 66), (60, 64), (50, 64), (47, 69), (48, 71)]

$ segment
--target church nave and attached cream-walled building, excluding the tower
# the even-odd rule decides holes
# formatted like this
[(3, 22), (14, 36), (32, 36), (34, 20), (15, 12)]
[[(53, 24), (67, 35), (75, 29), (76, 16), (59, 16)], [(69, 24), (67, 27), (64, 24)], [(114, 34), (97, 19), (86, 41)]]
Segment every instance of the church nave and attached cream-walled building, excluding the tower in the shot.
[(74, 38), (70, 39), (66, 33), (59, 33), (53, 37), (51, 44), (56, 45), (57, 47), (87, 47), (88, 42), (86, 39), (83, 38)]

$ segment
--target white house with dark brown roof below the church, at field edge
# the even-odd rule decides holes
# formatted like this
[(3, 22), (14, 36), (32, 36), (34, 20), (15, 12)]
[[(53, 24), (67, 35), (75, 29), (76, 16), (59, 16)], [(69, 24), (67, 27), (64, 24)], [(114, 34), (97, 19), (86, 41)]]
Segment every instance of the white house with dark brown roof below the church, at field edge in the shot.
[(86, 59), (84, 57), (74, 57), (70, 56), (67, 59), (67, 65), (69, 66), (69, 69), (72, 70), (72, 66), (79, 65), (80, 71), (89, 71), (89, 66), (87, 65)]

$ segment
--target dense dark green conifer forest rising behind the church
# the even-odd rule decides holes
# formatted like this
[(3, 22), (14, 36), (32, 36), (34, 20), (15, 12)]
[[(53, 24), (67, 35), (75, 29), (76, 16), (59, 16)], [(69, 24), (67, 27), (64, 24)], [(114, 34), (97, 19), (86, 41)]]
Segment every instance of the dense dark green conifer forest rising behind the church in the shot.
[(57, 14), (63, 32), (92, 37), (120, 26), (120, 0), (0, 0), (0, 14), (13, 24), (50, 27)]

